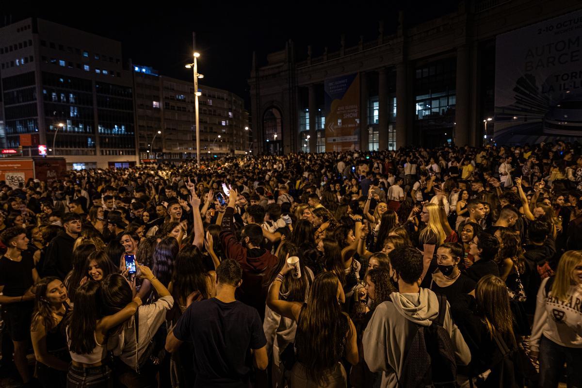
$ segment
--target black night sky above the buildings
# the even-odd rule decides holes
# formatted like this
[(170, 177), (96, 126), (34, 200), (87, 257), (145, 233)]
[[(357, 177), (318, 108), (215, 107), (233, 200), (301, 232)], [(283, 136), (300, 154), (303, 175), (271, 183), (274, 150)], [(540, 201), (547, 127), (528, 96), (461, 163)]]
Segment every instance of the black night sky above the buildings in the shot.
[[(201, 52), (198, 71), (205, 76), (204, 84), (233, 91), (248, 103), (253, 50), (262, 65), (269, 52), (285, 48), (285, 42), (292, 39), (297, 58), (303, 60), (308, 44), (313, 46), (314, 56), (321, 55), (325, 46), (329, 52), (336, 51), (342, 33), (346, 34), (347, 47), (357, 44), (360, 35), (364, 41), (376, 38), (379, 20), (384, 20), (385, 33), (395, 31), (399, 9), (406, 12), (406, 23), (419, 23), (455, 10), (457, 2), (207, 0), (195, 9), (175, 1), (59, 1), (39, 5), (29, 0), (5, 0), (0, 1), (0, 25), (6, 15), (12, 15), (13, 22), (37, 16), (102, 35), (122, 42), (126, 63), (132, 58), (133, 63), (184, 80), (191, 80), (184, 64), (191, 62), (192, 31), (196, 31)], [(7, 9), (8, 3), (18, 8)], [(129, 5), (134, 8), (126, 8)]]

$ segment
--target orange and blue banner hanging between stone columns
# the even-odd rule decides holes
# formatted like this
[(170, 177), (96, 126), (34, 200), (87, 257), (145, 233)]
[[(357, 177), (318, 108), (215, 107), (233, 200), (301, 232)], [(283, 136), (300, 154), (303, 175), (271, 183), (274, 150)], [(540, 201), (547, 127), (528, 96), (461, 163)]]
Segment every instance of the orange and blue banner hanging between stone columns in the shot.
[(325, 80), (325, 152), (360, 148), (360, 76)]

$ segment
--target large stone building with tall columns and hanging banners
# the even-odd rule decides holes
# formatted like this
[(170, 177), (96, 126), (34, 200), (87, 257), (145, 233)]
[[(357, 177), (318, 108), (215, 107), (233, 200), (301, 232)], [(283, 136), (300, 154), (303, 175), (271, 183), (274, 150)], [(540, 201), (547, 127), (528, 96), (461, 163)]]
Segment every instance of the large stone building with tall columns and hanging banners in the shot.
[[(503, 136), (519, 132), (522, 143), (539, 142), (546, 127), (565, 125), (547, 112), (556, 111), (552, 106), (559, 107), (566, 93), (580, 90), (579, 79), (570, 76), (577, 74), (576, 63), (580, 69), (580, 9), (574, 0), (468, 0), (416, 25), (400, 13), (398, 26), (379, 23), (375, 40), (360, 38), (348, 47), (342, 37), (339, 51), (288, 41), (266, 63), (254, 55), (253, 151), (509, 142), (499, 137), (500, 129)], [(520, 58), (506, 60), (518, 51)], [(517, 75), (510, 74), (514, 67), (520, 67)], [(548, 86), (552, 71), (562, 72), (565, 86)], [(548, 95), (558, 88), (562, 95)], [(528, 136), (534, 127), (543, 134)]]

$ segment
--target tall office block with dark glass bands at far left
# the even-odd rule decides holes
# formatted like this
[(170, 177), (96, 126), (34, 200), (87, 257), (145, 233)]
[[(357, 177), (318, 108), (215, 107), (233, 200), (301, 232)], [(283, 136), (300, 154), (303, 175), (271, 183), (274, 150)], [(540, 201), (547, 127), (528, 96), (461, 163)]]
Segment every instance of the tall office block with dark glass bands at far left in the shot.
[(25, 19), (0, 29), (0, 77), (4, 147), (36, 156), (46, 145), (68, 168), (136, 164), (132, 77), (120, 42)]

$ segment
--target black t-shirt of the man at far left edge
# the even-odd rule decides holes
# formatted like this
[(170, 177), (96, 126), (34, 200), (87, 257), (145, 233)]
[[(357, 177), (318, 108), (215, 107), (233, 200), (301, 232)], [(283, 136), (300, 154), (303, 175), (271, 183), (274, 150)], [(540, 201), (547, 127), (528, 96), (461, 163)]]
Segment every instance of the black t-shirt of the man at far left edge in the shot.
[[(22, 260), (12, 261), (6, 256), (0, 258), (0, 286), (4, 286), (2, 293), (7, 297), (19, 297), (26, 293), (34, 284), (34, 260), (32, 255), (22, 252)], [(6, 303), (3, 308), (18, 308), (18, 303)]]

